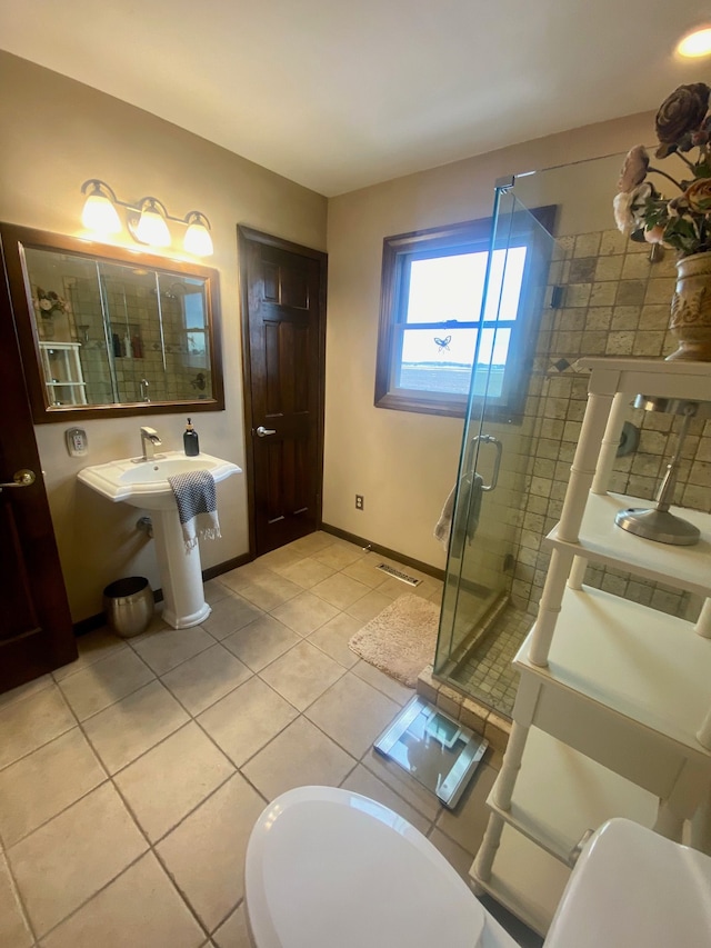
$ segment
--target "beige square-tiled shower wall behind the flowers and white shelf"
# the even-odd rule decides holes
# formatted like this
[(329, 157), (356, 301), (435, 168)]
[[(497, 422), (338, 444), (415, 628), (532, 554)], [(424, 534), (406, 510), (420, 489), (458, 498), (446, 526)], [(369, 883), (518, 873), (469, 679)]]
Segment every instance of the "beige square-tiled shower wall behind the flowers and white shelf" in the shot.
[[(587, 405), (588, 372), (577, 372), (574, 362), (583, 356), (661, 359), (677, 348), (668, 331), (677, 275), (671, 251), (651, 262), (649, 246), (618, 230), (559, 238), (558, 246), (550, 281), (562, 287), (562, 301), (541, 320), (523, 425), (533, 438), (518, 515), (512, 598), (531, 613), (550, 559), (542, 541), (560, 518)], [(610, 489), (652, 500), (674, 451), (680, 419), (640, 409), (630, 409), (628, 417), (640, 429), (640, 443), (634, 453), (617, 459)], [(682, 457), (677, 502), (711, 512), (711, 421), (691, 422)], [(620, 570), (589, 567), (585, 582), (689, 618), (700, 607), (688, 593)]]

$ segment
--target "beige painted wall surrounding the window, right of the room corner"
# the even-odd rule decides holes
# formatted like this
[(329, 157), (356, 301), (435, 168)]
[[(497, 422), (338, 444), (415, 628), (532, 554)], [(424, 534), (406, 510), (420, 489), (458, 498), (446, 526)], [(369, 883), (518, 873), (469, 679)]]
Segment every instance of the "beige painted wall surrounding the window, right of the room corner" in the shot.
[[(442, 223), (487, 217), (503, 174), (568, 164), (627, 151), (653, 138), (653, 116), (633, 116), (539, 139), (329, 201), (329, 309), (323, 519), (422, 562), (444, 566), (432, 530), (457, 476), (462, 420), (373, 406), (382, 240)], [(612, 226), (611, 201), (593, 191), (563, 203), (588, 220)], [(524, 179), (528, 181), (529, 179)], [(530, 179), (529, 193), (539, 187)], [(517, 186), (518, 190), (518, 186)], [(545, 193), (537, 197), (544, 202)], [(560, 193), (555, 201), (561, 202)], [(529, 206), (533, 206), (530, 203)], [(600, 221), (604, 220), (604, 223)], [(580, 220), (562, 220), (574, 232)], [(571, 231), (572, 228), (572, 231)], [(364, 510), (354, 509), (354, 495)]]

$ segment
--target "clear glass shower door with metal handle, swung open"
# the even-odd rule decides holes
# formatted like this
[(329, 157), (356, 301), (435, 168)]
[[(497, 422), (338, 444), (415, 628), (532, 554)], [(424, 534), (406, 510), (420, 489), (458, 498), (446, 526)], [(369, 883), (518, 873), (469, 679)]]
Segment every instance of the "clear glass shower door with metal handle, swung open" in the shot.
[[(532, 431), (524, 405), (547, 301), (552, 208), (497, 187), (434, 671), (452, 677), (509, 603)], [(481, 697), (481, 696), (479, 696)]]

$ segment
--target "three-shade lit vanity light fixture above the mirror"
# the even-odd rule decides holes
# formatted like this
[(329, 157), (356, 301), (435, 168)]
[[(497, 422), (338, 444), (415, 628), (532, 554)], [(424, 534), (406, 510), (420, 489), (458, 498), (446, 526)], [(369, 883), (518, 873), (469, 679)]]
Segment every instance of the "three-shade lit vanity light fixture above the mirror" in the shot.
[(187, 228), (183, 249), (196, 257), (210, 257), (213, 252), (210, 237), (210, 221), (202, 211), (189, 211), (184, 218), (173, 217), (158, 198), (141, 198), (136, 204), (121, 201), (116, 192), (98, 178), (90, 178), (81, 186), (87, 194), (81, 220), (87, 230), (93, 230), (101, 237), (121, 231), (121, 219), (117, 207), (126, 208), (126, 226), (139, 243), (149, 247), (170, 247), (171, 237), (168, 221), (176, 221)]

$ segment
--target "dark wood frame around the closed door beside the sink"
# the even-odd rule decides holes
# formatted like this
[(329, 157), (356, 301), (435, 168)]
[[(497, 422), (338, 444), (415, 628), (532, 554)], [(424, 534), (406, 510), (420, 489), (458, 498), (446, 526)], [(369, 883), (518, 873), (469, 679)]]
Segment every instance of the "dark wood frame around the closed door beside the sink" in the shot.
[(323, 508), (323, 437), (324, 437), (324, 405), (326, 405), (326, 300), (328, 285), (328, 255), (323, 250), (314, 250), (312, 247), (303, 247), (291, 240), (283, 240), (271, 233), (256, 230), (246, 224), (237, 227), (238, 262), (239, 262), (239, 296), (240, 296), (240, 322), (242, 336), (242, 388), (244, 402), (244, 467), (247, 475), (247, 516), (249, 526), (249, 553), (254, 559), (257, 552), (257, 525), (256, 525), (256, 500), (254, 500), (254, 441), (252, 431), (252, 371), (251, 371), (251, 343), (249, 336), (249, 287), (248, 287), (248, 246), (250, 243), (263, 243), (276, 247), (289, 253), (308, 257), (319, 263), (319, 379), (317, 412), (317, 476), (318, 493), (316, 520), (317, 527), (322, 522)]

